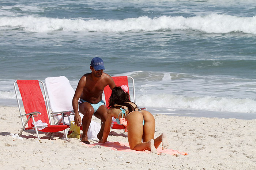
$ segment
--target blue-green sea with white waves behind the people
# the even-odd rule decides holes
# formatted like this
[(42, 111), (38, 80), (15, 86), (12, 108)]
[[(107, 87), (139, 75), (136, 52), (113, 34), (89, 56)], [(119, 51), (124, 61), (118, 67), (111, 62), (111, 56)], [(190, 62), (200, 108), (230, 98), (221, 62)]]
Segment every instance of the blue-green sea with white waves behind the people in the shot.
[(154, 114), (256, 118), (253, 0), (0, 1), (1, 106), (16, 79), (75, 89), (96, 56)]

